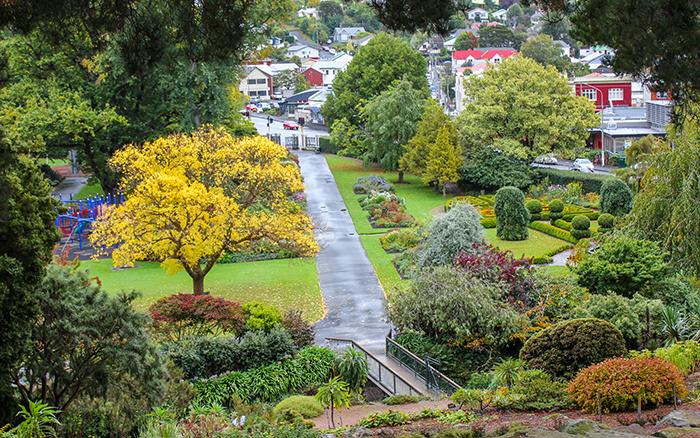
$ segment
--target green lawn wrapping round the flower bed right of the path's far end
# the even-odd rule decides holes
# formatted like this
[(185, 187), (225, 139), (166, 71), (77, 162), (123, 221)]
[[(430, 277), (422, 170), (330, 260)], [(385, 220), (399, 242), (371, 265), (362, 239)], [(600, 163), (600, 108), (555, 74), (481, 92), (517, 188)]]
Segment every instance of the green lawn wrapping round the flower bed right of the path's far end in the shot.
[(355, 223), (358, 234), (384, 234), (388, 231), (387, 229), (372, 228), (367, 220), (367, 212), (362, 211), (360, 208), (360, 204), (357, 202), (358, 196), (352, 191), (352, 186), (359, 176), (378, 174), (387, 180), (394, 187), (396, 194), (405, 199), (406, 209), (416, 220), (428, 217), (431, 209), (444, 204), (445, 201), (452, 198), (452, 196), (443, 198), (442, 194), (437, 193), (432, 187), (424, 184), (419, 177), (414, 175), (404, 175), (404, 180), (410, 184), (396, 184), (398, 172), (365, 169), (362, 167), (362, 163), (335, 155), (326, 155), (326, 160), (331, 172), (333, 172), (335, 182), (338, 184), (338, 189), (343, 196), (348, 213), (350, 213)]

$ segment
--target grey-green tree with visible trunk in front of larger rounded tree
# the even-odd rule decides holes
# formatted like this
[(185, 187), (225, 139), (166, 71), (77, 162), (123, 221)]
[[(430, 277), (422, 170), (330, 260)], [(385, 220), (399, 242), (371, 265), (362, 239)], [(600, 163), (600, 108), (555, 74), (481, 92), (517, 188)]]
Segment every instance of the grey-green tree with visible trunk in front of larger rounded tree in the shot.
[(403, 170), (399, 160), (406, 151), (405, 145), (417, 131), (417, 124), (427, 104), (424, 89), (415, 89), (404, 77), (379, 96), (367, 102), (361, 114), (369, 145), (363, 159), (365, 166), (378, 162), (384, 171), (399, 171), (399, 184), (403, 183)]

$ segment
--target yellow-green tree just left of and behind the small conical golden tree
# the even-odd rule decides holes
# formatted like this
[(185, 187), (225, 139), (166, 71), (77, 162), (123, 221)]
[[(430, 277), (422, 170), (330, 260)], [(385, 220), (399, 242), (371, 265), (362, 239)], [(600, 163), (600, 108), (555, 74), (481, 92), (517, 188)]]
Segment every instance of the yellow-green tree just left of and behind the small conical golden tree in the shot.
[(406, 151), (399, 160), (399, 167), (422, 177), (428, 168), (431, 146), (435, 144), (440, 129), (447, 124), (452, 124), (450, 116), (436, 101), (430, 101), (418, 122), (416, 135), (404, 146)]

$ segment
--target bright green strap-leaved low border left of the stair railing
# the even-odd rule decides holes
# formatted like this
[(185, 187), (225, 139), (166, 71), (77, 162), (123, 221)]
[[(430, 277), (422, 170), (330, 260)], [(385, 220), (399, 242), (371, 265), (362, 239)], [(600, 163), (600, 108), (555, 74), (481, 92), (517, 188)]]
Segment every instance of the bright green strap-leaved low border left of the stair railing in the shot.
[(246, 372), (227, 373), (192, 383), (199, 392), (195, 405), (231, 406), (236, 400), (272, 401), (283, 394), (298, 392), (309, 385), (328, 380), (333, 369), (335, 352), (327, 348), (308, 347), (296, 359), (287, 359)]

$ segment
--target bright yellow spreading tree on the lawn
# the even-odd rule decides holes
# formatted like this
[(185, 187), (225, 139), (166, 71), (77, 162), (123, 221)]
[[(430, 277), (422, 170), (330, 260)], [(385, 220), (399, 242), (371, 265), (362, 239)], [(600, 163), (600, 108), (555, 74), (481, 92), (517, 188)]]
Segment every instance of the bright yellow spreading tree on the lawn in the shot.
[(104, 212), (90, 240), (118, 244), (115, 266), (155, 257), (170, 275), (184, 269), (195, 295), (225, 250), (265, 240), (313, 256), (311, 220), (292, 198), (304, 188), (301, 174), (286, 157), (262, 137), (212, 128), (129, 145), (110, 160), (127, 200)]

